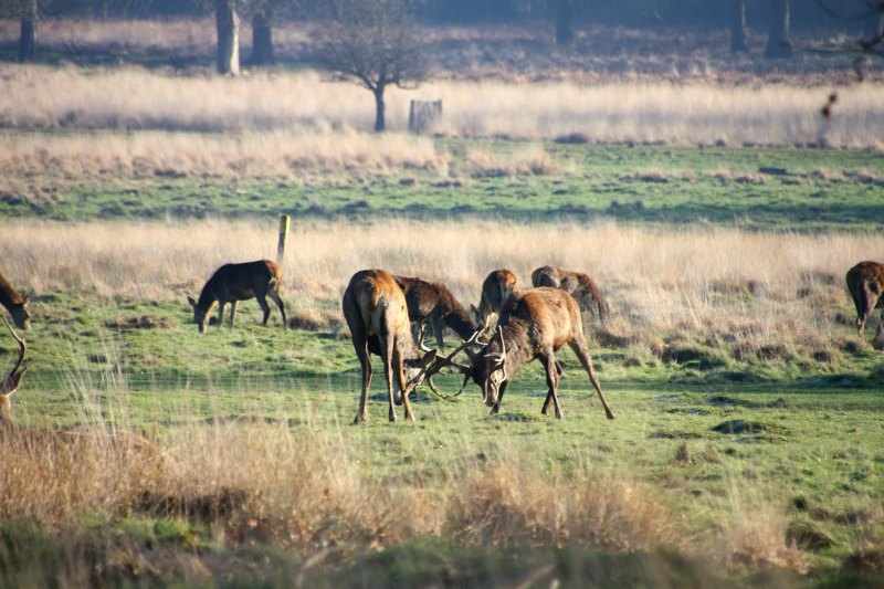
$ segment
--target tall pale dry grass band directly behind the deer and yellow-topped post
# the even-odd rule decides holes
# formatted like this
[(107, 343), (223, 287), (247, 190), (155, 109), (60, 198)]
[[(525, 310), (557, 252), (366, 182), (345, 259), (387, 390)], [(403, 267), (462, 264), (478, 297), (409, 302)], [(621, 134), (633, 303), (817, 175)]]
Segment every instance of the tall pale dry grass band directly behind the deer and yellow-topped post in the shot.
[[(659, 355), (693, 341), (740, 360), (800, 350), (821, 353), (833, 365), (840, 354), (832, 346), (851, 345), (841, 333), (853, 314), (844, 273), (860, 260), (884, 259), (884, 238), (875, 234), (676, 232), (612, 223), (322, 222), (296, 224), (293, 243), (286, 296), (293, 313), (313, 323), (328, 319), (317, 304), (335, 308), (360, 269), (442, 280), (471, 303), (488, 271), (509, 267), (527, 284), (534, 267), (550, 263), (587, 271), (601, 285), (613, 313), (600, 337)], [(4, 273), (38, 294), (175, 299), (221, 263), (273, 257), (274, 246), (275, 228), (252, 222), (21, 221), (0, 231)]]

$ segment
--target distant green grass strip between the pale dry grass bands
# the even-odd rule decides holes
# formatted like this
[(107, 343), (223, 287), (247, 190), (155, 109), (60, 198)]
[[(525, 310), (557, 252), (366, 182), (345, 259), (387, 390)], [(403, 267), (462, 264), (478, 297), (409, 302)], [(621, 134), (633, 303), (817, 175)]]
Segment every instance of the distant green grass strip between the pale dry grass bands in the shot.
[[(884, 219), (884, 159), (867, 150), (676, 148), (545, 144), (549, 173), (474, 177), (469, 149), (533, 145), (438, 140), (453, 177), (421, 170), (316, 180), (260, 178), (73, 178), (52, 199), (0, 199), (0, 214), (62, 220), (272, 215), (513, 219), (611, 218), (654, 223), (738, 223), (759, 229), (872, 229)], [(760, 173), (781, 168), (785, 175)], [(502, 172), (503, 173), (503, 172)]]

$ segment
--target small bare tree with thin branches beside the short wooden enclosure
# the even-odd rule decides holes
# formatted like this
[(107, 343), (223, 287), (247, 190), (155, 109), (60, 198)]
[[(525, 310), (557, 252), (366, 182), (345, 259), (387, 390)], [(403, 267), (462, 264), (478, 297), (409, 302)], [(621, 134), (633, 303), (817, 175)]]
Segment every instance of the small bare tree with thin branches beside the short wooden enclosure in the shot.
[(427, 74), (407, 0), (332, 0), (332, 22), (320, 33), (323, 66), (370, 91), (375, 130), (387, 128), (388, 86), (414, 87)]

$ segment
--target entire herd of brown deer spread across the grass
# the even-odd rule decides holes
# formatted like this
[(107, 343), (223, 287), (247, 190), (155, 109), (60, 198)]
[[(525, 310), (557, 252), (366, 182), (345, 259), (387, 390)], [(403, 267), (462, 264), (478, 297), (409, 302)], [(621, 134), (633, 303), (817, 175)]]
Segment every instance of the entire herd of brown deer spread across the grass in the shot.
[[(875, 308), (884, 308), (884, 264), (860, 262), (846, 274), (848, 290), (856, 307), (856, 327), (862, 336), (865, 323)], [(470, 380), (482, 389), (482, 398), (492, 413), (501, 401), (509, 380), (519, 368), (534, 359), (546, 371), (547, 396), (541, 412), (550, 403), (561, 419), (558, 386), (564, 374), (556, 353), (569, 346), (577, 355), (599, 395), (604, 414), (613, 419), (592, 367), (580, 309), (596, 309), (604, 320), (609, 308), (596, 283), (580, 272), (541, 266), (532, 273), (532, 288), (519, 288), (509, 270), (491, 272), (482, 284), (478, 306), (467, 312), (451, 291), (441, 283), (417, 277), (396, 276), (383, 270), (364, 270), (354, 274), (344, 292), (341, 307), (350, 329), (352, 346), (362, 368), (362, 390), (355, 423), (368, 418), (368, 390), (371, 385), (370, 355), (380, 356), (387, 381), (389, 419), (396, 421), (394, 406), (404, 407), (407, 420), (414, 416), (409, 396), (423, 382), (435, 391), (432, 377), (443, 368), (463, 375), (461, 390)], [(280, 309), (286, 325), (285, 304), (280, 295), (282, 270), (270, 261), (225, 264), (209, 278), (198, 299), (188, 297), (199, 332), (206, 332), (209, 314), (219, 307), (221, 324), (224, 307), (231, 305), (230, 325), (240, 301), (256, 298), (267, 324), (271, 308), (267, 298)], [(22, 296), (0, 274), (0, 304), (19, 329), (30, 323), (28, 297)], [(494, 322), (494, 317), (497, 320)], [(24, 372), (27, 344), (2, 317), (18, 347), (12, 370), (0, 381), (0, 425), (12, 423), (11, 396), (18, 390)], [(444, 346), (443, 332), (452, 329), (462, 343), (448, 356), (424, 346), (427, 324), (433, 329), (436, 344)], [(884, 318), (876, 339), (884, 338)], [(463, 353), (466, 362), (455, 358)]]

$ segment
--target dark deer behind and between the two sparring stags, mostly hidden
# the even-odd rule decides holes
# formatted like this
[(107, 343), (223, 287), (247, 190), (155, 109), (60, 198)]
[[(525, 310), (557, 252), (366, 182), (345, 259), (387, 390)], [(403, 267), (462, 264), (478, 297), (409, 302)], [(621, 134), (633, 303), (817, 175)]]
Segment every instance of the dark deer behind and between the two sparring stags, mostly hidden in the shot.
[(423, 349), (423, 333), (429, 322), (433, 327), (436, 345), (445, 345), (445, 327), (466, 339), (476, 330), (475, 323), (463, 305), (454, 298), (448, 286), (439, 282), (427, 282), (408, 276), (393, 276), (402, 288), (408, 305), (408, 318), (412, 323), (414, 341)]

